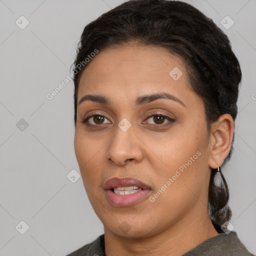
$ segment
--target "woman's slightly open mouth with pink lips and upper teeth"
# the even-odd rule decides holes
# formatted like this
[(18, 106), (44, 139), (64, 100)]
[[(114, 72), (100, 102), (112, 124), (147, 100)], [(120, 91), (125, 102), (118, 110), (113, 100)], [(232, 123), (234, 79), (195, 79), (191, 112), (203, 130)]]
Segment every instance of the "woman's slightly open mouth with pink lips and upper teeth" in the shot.
[(105, 196), (108, 202), (114, 206), (131, 206), (143, 200), (149, 192), (150, 187), (142, 181), (126, 177), (111, 178), (106, 181)]

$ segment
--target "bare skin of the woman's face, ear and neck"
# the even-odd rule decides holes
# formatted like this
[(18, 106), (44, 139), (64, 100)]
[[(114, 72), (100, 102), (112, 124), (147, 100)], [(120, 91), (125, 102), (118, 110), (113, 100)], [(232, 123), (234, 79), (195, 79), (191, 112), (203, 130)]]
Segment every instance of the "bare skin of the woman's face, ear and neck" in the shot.
[[(174, 80), (169, 72), (182, 71)], [(167, 92), (183, 102), (157, 99), (135, 105), (138, 96)], [(233, 120), (223, 114), (207, 129), (202, 99), (191, 90), (183, 60), (166, 49), (135, 43), (100, 51), (83, 71), (78, 102), (86, 94), (107, 96), (111, 104), (91, 100), (77, 105), (74, 149), (89, 201), (104, 225), (105, 254), (182, 255), (217, 235), (207, 211), (210, 167), (220, 166), (231, 147)], [(158, 121), (146, 114), (173, 118)], [(92, 114), (92, 126), (82, 123)], [(118, 123), (126, 118), (127, 131)], [(161, 126), (168, 124), (166, 126)], [(94, 125), (94, 126), (93, 126)], [(94, 127), (94, 128), (93, 128)], [(197, 151), (201, 153), (153, 202), (155, 194)], [(111, 205), (104, 183), (133, 177), (149, 185), (142, 201), (129, 207)], [(123, 221), (126, 223), (123, 224)], [(126, 233), (119, 226), (130, 228)]]

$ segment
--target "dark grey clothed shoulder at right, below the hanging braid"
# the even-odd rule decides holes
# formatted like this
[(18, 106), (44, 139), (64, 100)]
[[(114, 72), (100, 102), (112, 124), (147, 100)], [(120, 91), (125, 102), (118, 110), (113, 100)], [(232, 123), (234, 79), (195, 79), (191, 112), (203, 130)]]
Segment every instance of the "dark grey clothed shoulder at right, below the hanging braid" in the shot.
[(236, 232), (232, 231), (228, 234), (219, 233), (193, 249), (189, 250), (183, 256), (207, 255), (207, 256), (253, 256), (237, 237)]

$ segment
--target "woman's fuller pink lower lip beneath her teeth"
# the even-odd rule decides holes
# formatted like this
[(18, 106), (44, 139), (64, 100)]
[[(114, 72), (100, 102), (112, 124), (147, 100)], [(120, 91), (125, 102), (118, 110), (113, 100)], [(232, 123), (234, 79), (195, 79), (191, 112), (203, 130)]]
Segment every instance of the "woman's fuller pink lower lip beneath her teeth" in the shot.
[(150, 189), (144, 189), (132, 194), (115, 194), (111, 189), (105, 190), (107, 200), (115, 206), (130, 206), (143, 200), (149, 193)]

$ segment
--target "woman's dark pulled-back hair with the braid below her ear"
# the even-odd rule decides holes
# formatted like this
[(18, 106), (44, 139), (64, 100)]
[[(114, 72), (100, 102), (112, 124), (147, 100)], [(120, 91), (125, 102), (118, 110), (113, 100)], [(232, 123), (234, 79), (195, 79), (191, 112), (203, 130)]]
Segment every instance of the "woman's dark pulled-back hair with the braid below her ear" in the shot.
[[(202, 12), (188, 3), (169, 0), (129, 0), (84, 27), (73, 63), (74, 125), (78, 83), (86, 65), (79, 64), (95, 49), (135, 42), (167, 49), (185, 62), (191, 89), (204, 102), (208, 130), (221, 114), (237, 115), (240, 65), (227, 36)], [(232, 148), (226, 159), (230, 158)], [(225, 161), (226, 161), (225, 159)], [(208, 212), (218, 232), (231, 218), (228, 187), (214, 182), (211, 169)]]

